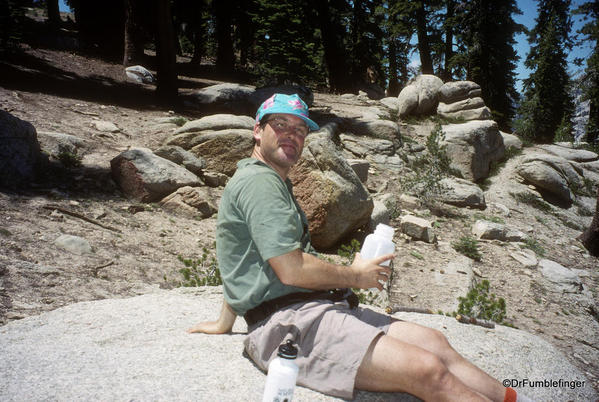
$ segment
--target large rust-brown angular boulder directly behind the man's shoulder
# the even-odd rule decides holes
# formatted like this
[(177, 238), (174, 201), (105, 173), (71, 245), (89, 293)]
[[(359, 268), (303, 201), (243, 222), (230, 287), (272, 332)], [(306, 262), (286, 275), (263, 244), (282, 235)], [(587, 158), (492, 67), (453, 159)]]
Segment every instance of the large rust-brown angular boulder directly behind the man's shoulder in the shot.
[(308, 217), (316, 248), (332, 247), (368, 223), (372, 198), (325, 133), (308, 137), (289, 178)]

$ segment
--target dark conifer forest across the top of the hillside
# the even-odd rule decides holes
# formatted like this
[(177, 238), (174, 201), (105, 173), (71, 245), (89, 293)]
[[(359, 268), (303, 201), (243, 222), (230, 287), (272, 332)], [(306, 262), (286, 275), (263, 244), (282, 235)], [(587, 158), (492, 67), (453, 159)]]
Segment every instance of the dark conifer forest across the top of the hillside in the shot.
[[(27, 24), (26, 7), (47, 10), (48, 25), (71, 28), (81, 49), (143, 64), (156, 51), (157, 93), (177, 98), (177, 55), (190, 68), (214, 66), (220, 79), (258, 86), (298, 84), (318, 91), (370, 89), (397, 96), (417, 74), (471, 80), (493, 119), (531, 142), (572, 141), (573, 87), (590, 102), (586, 140), (599, 140), (599, 0), (539, 0), (527, 31), (514, 21), (515, 0), (66, 0), (74, 21), (63, 21), (58, 0), (0, 0), (0, 51), (12, 51)], [(585, 18), (572, 31), (572, 15)], [(67, 25), (68, 24), (68, 25)], [(515, 88), (515, 35), (528, 34), (523, 93)], [(567, 55), (575, 41), (592, 53), (576, 82)], [(417, 52), (420, 66), (410, 68)]]

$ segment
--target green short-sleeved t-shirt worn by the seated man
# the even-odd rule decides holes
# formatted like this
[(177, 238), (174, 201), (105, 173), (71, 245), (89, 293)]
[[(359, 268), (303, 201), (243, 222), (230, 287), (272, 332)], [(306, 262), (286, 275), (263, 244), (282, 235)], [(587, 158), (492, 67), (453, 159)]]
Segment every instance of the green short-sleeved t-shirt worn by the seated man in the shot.
[(289, 179), (247, 158), (227, 183), (218, 209), (216, 255), (225, 300), (238, 315), (262, 302), (308, 289), (284, 285), (268, 259), (301, 249), (316, 254)]

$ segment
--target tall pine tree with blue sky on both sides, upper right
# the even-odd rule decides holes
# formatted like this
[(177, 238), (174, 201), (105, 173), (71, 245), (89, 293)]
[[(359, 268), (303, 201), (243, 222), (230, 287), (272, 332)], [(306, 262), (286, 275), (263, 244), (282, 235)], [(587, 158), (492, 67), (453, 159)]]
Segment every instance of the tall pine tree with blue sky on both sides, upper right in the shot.
[(566, 53), (572, 48), (570, 0), (541, 0), (536, 25), (529, 34), (525, 65), (533, 72), (524, 80), (524, 101), (516, 121), (518, 135), (535, 142), (553, 142), (560, 125), (573, 112)]

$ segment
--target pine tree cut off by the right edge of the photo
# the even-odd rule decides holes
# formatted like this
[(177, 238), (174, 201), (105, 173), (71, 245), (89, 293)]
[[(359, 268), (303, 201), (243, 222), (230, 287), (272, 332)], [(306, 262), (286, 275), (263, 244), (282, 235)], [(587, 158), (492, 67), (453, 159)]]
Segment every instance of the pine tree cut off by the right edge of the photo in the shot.
[(574, 11), (588, 21), (578, 31), (584, 41), (593, 43), (587, 59), (583, 83), (583, 99), (589, 100), (589, 122), (586, 126), (586, 141), (599, 146), (599, 0), (588, 1)]

